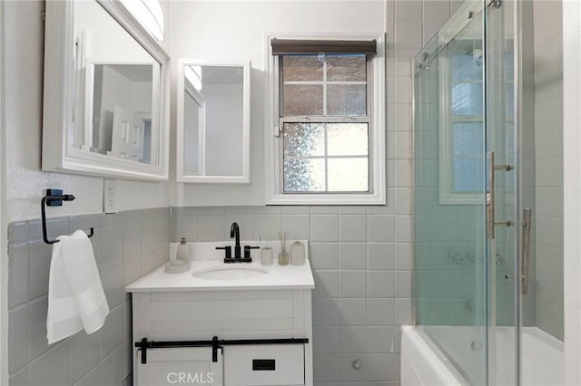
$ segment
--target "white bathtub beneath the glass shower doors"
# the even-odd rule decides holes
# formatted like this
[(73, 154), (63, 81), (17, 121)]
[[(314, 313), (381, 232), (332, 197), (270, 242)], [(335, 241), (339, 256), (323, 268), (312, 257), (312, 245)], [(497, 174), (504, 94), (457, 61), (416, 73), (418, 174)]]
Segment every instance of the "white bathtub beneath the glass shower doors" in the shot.
[[(448, 355), (438, 350), (421, 326), (403, 326), (401, 333), (401, 386), (457, 386), (470, 382), (467, 373), (480, 372), (484, 378), (483, 357), (485, 347), (478, 339), (474, 327), (430, 327), (430, 333), (438, 340), (448, 342)], [(483, 334), (481, 334), (484, 336)], [(477, 338), (475, 338), (477, 337)], [(510, 385), (513, 383), (512, 352), (513, 331), (498, 327), (493, 348), (498, 355), (491, 365), (490, 384)], [(563, 343), (537, 327), (524, 327), (522, 334), (521, 384), (527, 386), (553, 386), (565, 383)], [(502, 355), (509, 355), (508, 360)], [(468, 366), (464, 371), (454, 362)], [(470, 369), (472, 365), (474, 368)], [(493, 368), (494, 366), (494, 368)], [(493, 380), (494, 378), (494, 380)]]

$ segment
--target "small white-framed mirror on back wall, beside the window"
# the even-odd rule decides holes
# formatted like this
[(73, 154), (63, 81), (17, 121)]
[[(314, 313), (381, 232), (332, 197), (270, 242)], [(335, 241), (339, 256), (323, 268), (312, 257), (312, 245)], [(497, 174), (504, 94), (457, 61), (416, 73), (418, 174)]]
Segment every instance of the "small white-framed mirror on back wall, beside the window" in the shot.
[(178, 181), (250, 182), (250, 62), (179, 66)]

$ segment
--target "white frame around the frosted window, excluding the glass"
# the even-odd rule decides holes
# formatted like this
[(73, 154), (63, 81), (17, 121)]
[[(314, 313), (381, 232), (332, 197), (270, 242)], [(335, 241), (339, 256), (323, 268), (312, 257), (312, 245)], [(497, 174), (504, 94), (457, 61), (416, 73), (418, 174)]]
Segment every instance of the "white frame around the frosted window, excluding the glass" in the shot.
[[(271, 39), (349, 40), (375, 39), (378, 53), (368, 58), (368, 114), (364, 117), (312, 116), (281, 117), (280, 59), (272, 55)], [(266, 35), (266, 69), (268, 100), (266, 101), (265, 181), (267, 205), (385, 205), (386, 204), (386, 71), (385, 34)], [(369, 65), (370, 64), (370, 65)], [(371, 68), (369, 68), (371, 67)], [(369, 79), (370, 78), (370, 79)], [(284, 192), (282, 176), (282, 124), (284, 122), (365, 122), (369, 124), (369, 192)]]

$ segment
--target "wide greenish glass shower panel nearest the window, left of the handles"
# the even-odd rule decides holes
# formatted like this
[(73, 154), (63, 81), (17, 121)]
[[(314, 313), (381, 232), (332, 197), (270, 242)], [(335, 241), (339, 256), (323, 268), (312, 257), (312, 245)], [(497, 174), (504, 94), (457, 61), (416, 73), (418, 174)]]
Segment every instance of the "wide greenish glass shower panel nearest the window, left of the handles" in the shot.
[(483, 2), (415, 60), (417, 322), (467, 384), (487, 384)]

